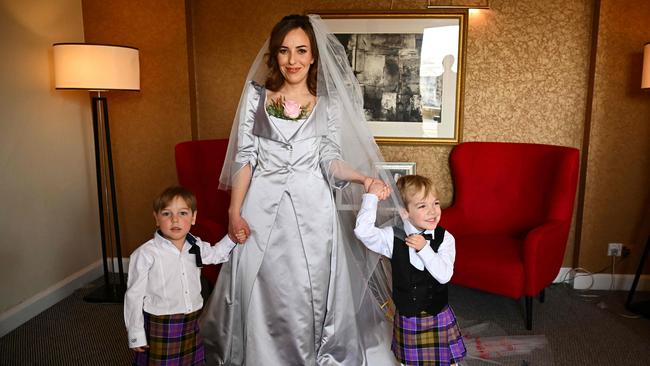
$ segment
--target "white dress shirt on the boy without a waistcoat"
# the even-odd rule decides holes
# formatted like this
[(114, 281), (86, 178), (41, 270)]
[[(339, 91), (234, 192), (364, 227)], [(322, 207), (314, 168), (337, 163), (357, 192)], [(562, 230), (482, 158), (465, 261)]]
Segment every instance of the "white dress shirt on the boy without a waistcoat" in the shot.
[[(227, 262), (235, 247), (228, 235), (215, 246), (196, 238), (204, 264)], [(136, 249), (129, 260), (128, 288), (124, 296), (124, 322), (129, 347), (147, 345), (142, 310), (154, 315), (189, 314), (203, 307), (201, 269), (191, 245), (179, 251), (158, 232)]]

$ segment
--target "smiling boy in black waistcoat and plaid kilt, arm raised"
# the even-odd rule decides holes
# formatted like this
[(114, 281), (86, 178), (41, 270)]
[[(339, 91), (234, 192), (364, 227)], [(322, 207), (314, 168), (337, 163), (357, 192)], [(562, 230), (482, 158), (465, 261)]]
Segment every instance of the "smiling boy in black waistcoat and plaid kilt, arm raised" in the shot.
[(396, 306), (391, 349), (404, 365), (458, 364), (466, 354), (456, 317), (447, 303), (454, 272), (454, 237), (438, 225), (440, 202), (428, 178), (397, 180), (405, 211), (404, 229), (375, 227), (382, 182), (363, 196), (354, 233), (370, 250), (390, 258)]

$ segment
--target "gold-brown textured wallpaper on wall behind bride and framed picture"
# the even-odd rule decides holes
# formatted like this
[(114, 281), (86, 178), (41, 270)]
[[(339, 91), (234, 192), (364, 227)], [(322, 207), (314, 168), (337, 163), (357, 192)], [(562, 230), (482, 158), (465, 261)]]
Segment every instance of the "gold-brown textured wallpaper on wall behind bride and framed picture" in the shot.
[[(306, 9), (390, 8), (390, 2), (372, 1), (280, 6), (241, 1), (240, 12), (224, 13), (210, 1), (193, 4), (200, 138), (228, 136), (248, 67), (283, 15)], [(423, 1), (400, 1), (393, 8), (422, 9), (424, 5)], [(592, 1), (502, 0), (491, 1), (490, 6), (469, 17), (463, 140), (579, 148)], [(250, 24), (248, 19), (256, 21)], [(418, 173), (437, 184), (443, 206), (453, 199), (448, 165), (451, 148), (381, 145), (386, 160), (416, 162)], [(565, 263), (570, 263), (572, 251), (569, 245)]]

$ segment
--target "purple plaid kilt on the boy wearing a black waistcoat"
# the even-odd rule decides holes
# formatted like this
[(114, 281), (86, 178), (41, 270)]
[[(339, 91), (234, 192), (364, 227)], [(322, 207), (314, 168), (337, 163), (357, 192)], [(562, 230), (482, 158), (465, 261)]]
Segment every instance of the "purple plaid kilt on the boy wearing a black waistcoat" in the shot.
[(395, 314), (391, 349), (404, 365), (459, 363), (467, 351), (456, 316), (449, 306), (438, 315)]

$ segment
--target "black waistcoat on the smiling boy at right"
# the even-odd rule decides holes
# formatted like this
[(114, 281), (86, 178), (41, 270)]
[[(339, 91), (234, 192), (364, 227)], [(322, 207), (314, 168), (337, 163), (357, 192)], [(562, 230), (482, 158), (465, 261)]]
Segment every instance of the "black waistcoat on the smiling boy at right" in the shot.
[[(426, 311), (430, 315), (438, 314), (447, 305), (447, 284), (438, 282), (426, 268), (423, 271), (413, 267), (409, 258), (409, 247), (397, 235), (404, 232), (393, 228), (393, 301), (397, 311), (402, 316), (416, 316)], [(434, 231), (434, 239), (429, 243), (434, 252), (438, 252), (445, 229), (438, 225)]]

